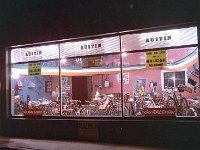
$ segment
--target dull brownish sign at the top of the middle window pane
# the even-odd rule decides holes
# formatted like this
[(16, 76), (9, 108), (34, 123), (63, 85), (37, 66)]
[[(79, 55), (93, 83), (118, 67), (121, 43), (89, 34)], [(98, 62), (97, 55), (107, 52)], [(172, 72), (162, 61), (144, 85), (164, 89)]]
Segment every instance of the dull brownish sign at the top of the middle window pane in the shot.
[(84, 67), (101, 67), (101, 56), (84, 58)]

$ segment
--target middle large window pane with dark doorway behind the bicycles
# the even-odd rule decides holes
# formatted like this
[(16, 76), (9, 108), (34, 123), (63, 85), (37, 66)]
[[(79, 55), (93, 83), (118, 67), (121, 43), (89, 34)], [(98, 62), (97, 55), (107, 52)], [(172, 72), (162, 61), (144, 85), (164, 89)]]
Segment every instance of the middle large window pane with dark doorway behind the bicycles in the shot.
[(121, 116), (119, 55), (62, 60), (63, 116)]

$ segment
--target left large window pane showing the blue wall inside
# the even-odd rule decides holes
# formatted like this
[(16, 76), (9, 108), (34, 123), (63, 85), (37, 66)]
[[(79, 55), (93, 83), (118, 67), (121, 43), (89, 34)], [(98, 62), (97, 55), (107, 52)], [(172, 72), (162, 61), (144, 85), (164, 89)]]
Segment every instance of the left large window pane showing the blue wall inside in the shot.
[(59, 115), (58, 61), (12, 65), (11, 114)]

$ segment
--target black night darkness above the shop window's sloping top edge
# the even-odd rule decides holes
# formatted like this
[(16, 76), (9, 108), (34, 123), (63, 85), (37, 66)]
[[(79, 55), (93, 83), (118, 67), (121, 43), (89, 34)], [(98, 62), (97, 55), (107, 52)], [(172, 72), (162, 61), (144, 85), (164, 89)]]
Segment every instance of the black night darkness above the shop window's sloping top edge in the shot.
[(200, 0), (0, 0), (0, 46), (200, 21)]

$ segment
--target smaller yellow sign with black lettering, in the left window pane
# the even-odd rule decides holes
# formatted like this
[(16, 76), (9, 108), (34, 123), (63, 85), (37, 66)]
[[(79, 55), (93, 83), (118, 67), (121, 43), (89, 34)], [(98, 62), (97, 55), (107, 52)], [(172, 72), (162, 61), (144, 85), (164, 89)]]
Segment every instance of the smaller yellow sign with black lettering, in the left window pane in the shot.
[(41, 75), (41, 63), (29, 63), (28, 64), (28, 75), (29, 76), (38, 76)]

